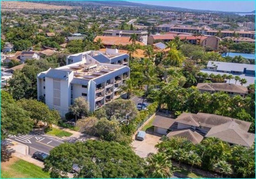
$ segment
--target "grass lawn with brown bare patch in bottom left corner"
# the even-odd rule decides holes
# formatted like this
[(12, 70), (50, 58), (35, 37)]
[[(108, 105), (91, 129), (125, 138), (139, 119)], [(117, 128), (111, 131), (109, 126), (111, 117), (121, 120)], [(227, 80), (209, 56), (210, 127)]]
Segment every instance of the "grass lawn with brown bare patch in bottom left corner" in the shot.
[(12, 158), (1, 163), (1, 178), (50, 178), (48, 172), (25, 160)]

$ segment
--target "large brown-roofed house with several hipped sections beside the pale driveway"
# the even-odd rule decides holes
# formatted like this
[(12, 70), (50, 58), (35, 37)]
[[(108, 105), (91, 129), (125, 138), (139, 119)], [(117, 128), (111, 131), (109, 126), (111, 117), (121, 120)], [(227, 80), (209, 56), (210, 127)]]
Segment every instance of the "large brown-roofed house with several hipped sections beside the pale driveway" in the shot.
[(202, 137), (215, 137), (231, 145), (250, 147), (255, 140), (255, 134), (247, 132), (251, 123), (214, 114), (182, 113), (176, 119), (158, 116), (152, 125), (156, 133), (186, 137), (195, 144), (200, 143)]

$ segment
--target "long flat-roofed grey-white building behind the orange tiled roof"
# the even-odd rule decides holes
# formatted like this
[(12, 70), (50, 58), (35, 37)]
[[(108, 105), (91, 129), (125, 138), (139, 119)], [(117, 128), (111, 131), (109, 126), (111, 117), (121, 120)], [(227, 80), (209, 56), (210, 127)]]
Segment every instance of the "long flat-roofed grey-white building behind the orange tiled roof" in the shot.
[(137, 34), (138, 41), (144, 45), (148, 43), (148, 32), (143, 30), (106, 30), (103, 32), (103, 36), (119, 36), (130, 37), (132, 34)]

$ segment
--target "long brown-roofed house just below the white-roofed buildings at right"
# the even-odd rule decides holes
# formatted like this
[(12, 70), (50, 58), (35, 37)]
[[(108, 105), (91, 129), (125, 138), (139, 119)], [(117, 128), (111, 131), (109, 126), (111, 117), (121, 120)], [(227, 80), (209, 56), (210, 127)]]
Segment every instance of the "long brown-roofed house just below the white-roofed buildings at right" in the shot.
[(204, 93), (204, 92), (210, 92), (210, 93), (216, 93), (216, 92), (226, 92), (232, 96), (234, 95), (241, 95), (245, 96), (248, 94), (247, 87), (236, 85), (236, 84), (228, 84), (228, 83), (198, 83), (196, 88)]

